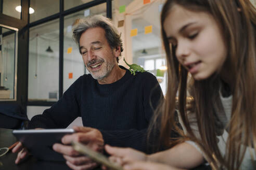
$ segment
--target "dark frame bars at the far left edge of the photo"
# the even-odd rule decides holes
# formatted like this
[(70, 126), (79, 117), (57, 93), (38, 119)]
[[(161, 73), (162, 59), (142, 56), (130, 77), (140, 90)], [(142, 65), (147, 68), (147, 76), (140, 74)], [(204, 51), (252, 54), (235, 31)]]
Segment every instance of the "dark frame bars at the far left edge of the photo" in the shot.
[(16, 99), (1, 100), (1, 104), (18, 104), (24, 111), (27, 108), (27, 74), (28, 74), (28, 21), (29, 21), (29, 0), (21, 1), (20, 19), (5, 15), (3, 13), (3, 0), (0, 0), (0, 24), (18, 29), (18, 50), (17, 50), (17, 76), (15, 81)]

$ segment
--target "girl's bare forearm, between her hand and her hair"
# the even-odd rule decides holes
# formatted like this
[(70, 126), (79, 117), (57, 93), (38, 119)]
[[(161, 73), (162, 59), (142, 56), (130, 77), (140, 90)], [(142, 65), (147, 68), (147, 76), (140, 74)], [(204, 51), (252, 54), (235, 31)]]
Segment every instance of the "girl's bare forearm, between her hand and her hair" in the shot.
[(203, 163), (204, 158), (194, 146), (182, 143), (171, 149), (150, 154), (148, 161), (169, 164), (178, 168), (194, 168)]

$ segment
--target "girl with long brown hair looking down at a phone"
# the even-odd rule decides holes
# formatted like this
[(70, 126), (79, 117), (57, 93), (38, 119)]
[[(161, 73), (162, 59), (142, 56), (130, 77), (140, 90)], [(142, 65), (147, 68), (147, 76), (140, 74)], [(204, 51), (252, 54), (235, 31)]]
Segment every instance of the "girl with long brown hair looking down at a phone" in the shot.
[[(151, 127), (160, 120), (160, 141), (170, 144), (178, 91), (189, 140), (151, 155), (106, 146), (111, 159), (125, 169), (194, 168), (204, 160), (213, 169), (255, 169), (255, 24), (249, 0), (168, 0), (161, 14), (168, 92)], [(192, 111), (186, 108), (188, 74)]]

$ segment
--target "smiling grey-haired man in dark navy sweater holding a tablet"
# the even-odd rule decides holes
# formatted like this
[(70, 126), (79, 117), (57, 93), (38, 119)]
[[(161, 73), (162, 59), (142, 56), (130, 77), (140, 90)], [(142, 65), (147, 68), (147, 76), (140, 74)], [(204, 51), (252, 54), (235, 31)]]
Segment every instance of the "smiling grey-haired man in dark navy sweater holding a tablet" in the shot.
[[(84, 127), (74, 127), (77, 133), (64, 136), (62, 144), (53, 146), (72, 169), (97, 166), (69, 146), (72, 140), (100, 152), (105, 144), (147, 151), (147, 127), (163, 96), (156, 77), (147, 72), (134, 76), (118, 65), (122, 40), (105, 17), (80, 19), (73, 38), (91, 74), (81, 76), (56, 104), (42, 115), (34, 116), (29, 128), (66, 128), (75, 118), (82, 117)], [(20, 144), (14, 151), (21, 148)], [(20, 152), (16, 163), (26, 153)]]

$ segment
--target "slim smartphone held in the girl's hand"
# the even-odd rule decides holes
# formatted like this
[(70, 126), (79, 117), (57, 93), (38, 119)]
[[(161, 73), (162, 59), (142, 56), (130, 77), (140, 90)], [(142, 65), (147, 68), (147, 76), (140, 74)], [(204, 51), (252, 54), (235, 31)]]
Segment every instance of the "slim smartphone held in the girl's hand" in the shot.
[(86, 155), (87, 157), (91, 158), (92, 160), (94, 160), (97, 163), (100, 163), (100, 164), (103, 164), (103, 165), (109, 167), (109, 169), (111, 169), (111, 170), (122, 170), (123, 169), (121, 166), (117, 165), (116, 163), (109, 161), (109, 159), (102, 153), (96, 152), (77, 141), (72, 141), (71, 144), (72, 144), (74, 150)]

